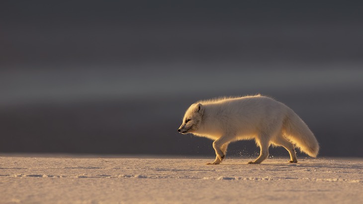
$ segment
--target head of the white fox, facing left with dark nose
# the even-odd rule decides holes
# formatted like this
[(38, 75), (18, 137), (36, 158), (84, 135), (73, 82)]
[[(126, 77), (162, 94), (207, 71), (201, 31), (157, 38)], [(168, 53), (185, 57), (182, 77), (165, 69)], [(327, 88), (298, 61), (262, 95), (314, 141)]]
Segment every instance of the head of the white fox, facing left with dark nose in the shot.
[(186, 110), (178, 132), (181, 134), (193, 133), (198, 130), (202, 121), (204, 108), (200, 103), (194, 103)]

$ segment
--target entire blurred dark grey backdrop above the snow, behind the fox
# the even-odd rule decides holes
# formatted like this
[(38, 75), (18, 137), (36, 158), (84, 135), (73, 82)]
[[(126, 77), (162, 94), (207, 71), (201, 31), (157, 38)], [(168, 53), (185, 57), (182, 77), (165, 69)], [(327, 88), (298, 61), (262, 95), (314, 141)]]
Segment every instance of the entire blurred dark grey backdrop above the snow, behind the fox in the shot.
[[(213, 156), (212, 141), (178, 134), (185, 109), (261, 93), (301, 116), (321, 156), (362, 157), (362, 10), (359, 1), (1, 1), (0, 152)], [(258, 152), (253, 141), (229, 149)]]

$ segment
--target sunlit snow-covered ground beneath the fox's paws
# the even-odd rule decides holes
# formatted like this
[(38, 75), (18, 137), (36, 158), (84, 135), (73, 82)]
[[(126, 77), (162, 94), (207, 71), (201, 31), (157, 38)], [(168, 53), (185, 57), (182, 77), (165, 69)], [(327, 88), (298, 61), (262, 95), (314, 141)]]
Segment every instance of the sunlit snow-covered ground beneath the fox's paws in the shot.
[(363, 201), (363, 159), (0, 157), (0, 203), (350, 203)]

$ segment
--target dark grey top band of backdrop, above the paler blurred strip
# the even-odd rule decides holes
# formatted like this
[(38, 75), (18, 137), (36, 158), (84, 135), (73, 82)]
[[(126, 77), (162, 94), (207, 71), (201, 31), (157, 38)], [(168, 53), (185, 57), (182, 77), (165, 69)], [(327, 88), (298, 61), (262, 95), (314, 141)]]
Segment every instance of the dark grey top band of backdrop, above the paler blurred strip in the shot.
[(1, 4), (0, 62), (10, 68), (211, 60), (362, 61), (360, 2)]

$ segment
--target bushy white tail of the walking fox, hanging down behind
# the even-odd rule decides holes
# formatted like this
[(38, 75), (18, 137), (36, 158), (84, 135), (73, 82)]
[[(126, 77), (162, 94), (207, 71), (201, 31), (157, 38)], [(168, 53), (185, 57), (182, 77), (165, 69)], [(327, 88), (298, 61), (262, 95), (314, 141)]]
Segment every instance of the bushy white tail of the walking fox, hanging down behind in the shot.
[(297, 146), (300, 151), (311, 157), (319, 152), (319, 143), (304, 121), (291, 109), (284, 121), (284, 135)]

